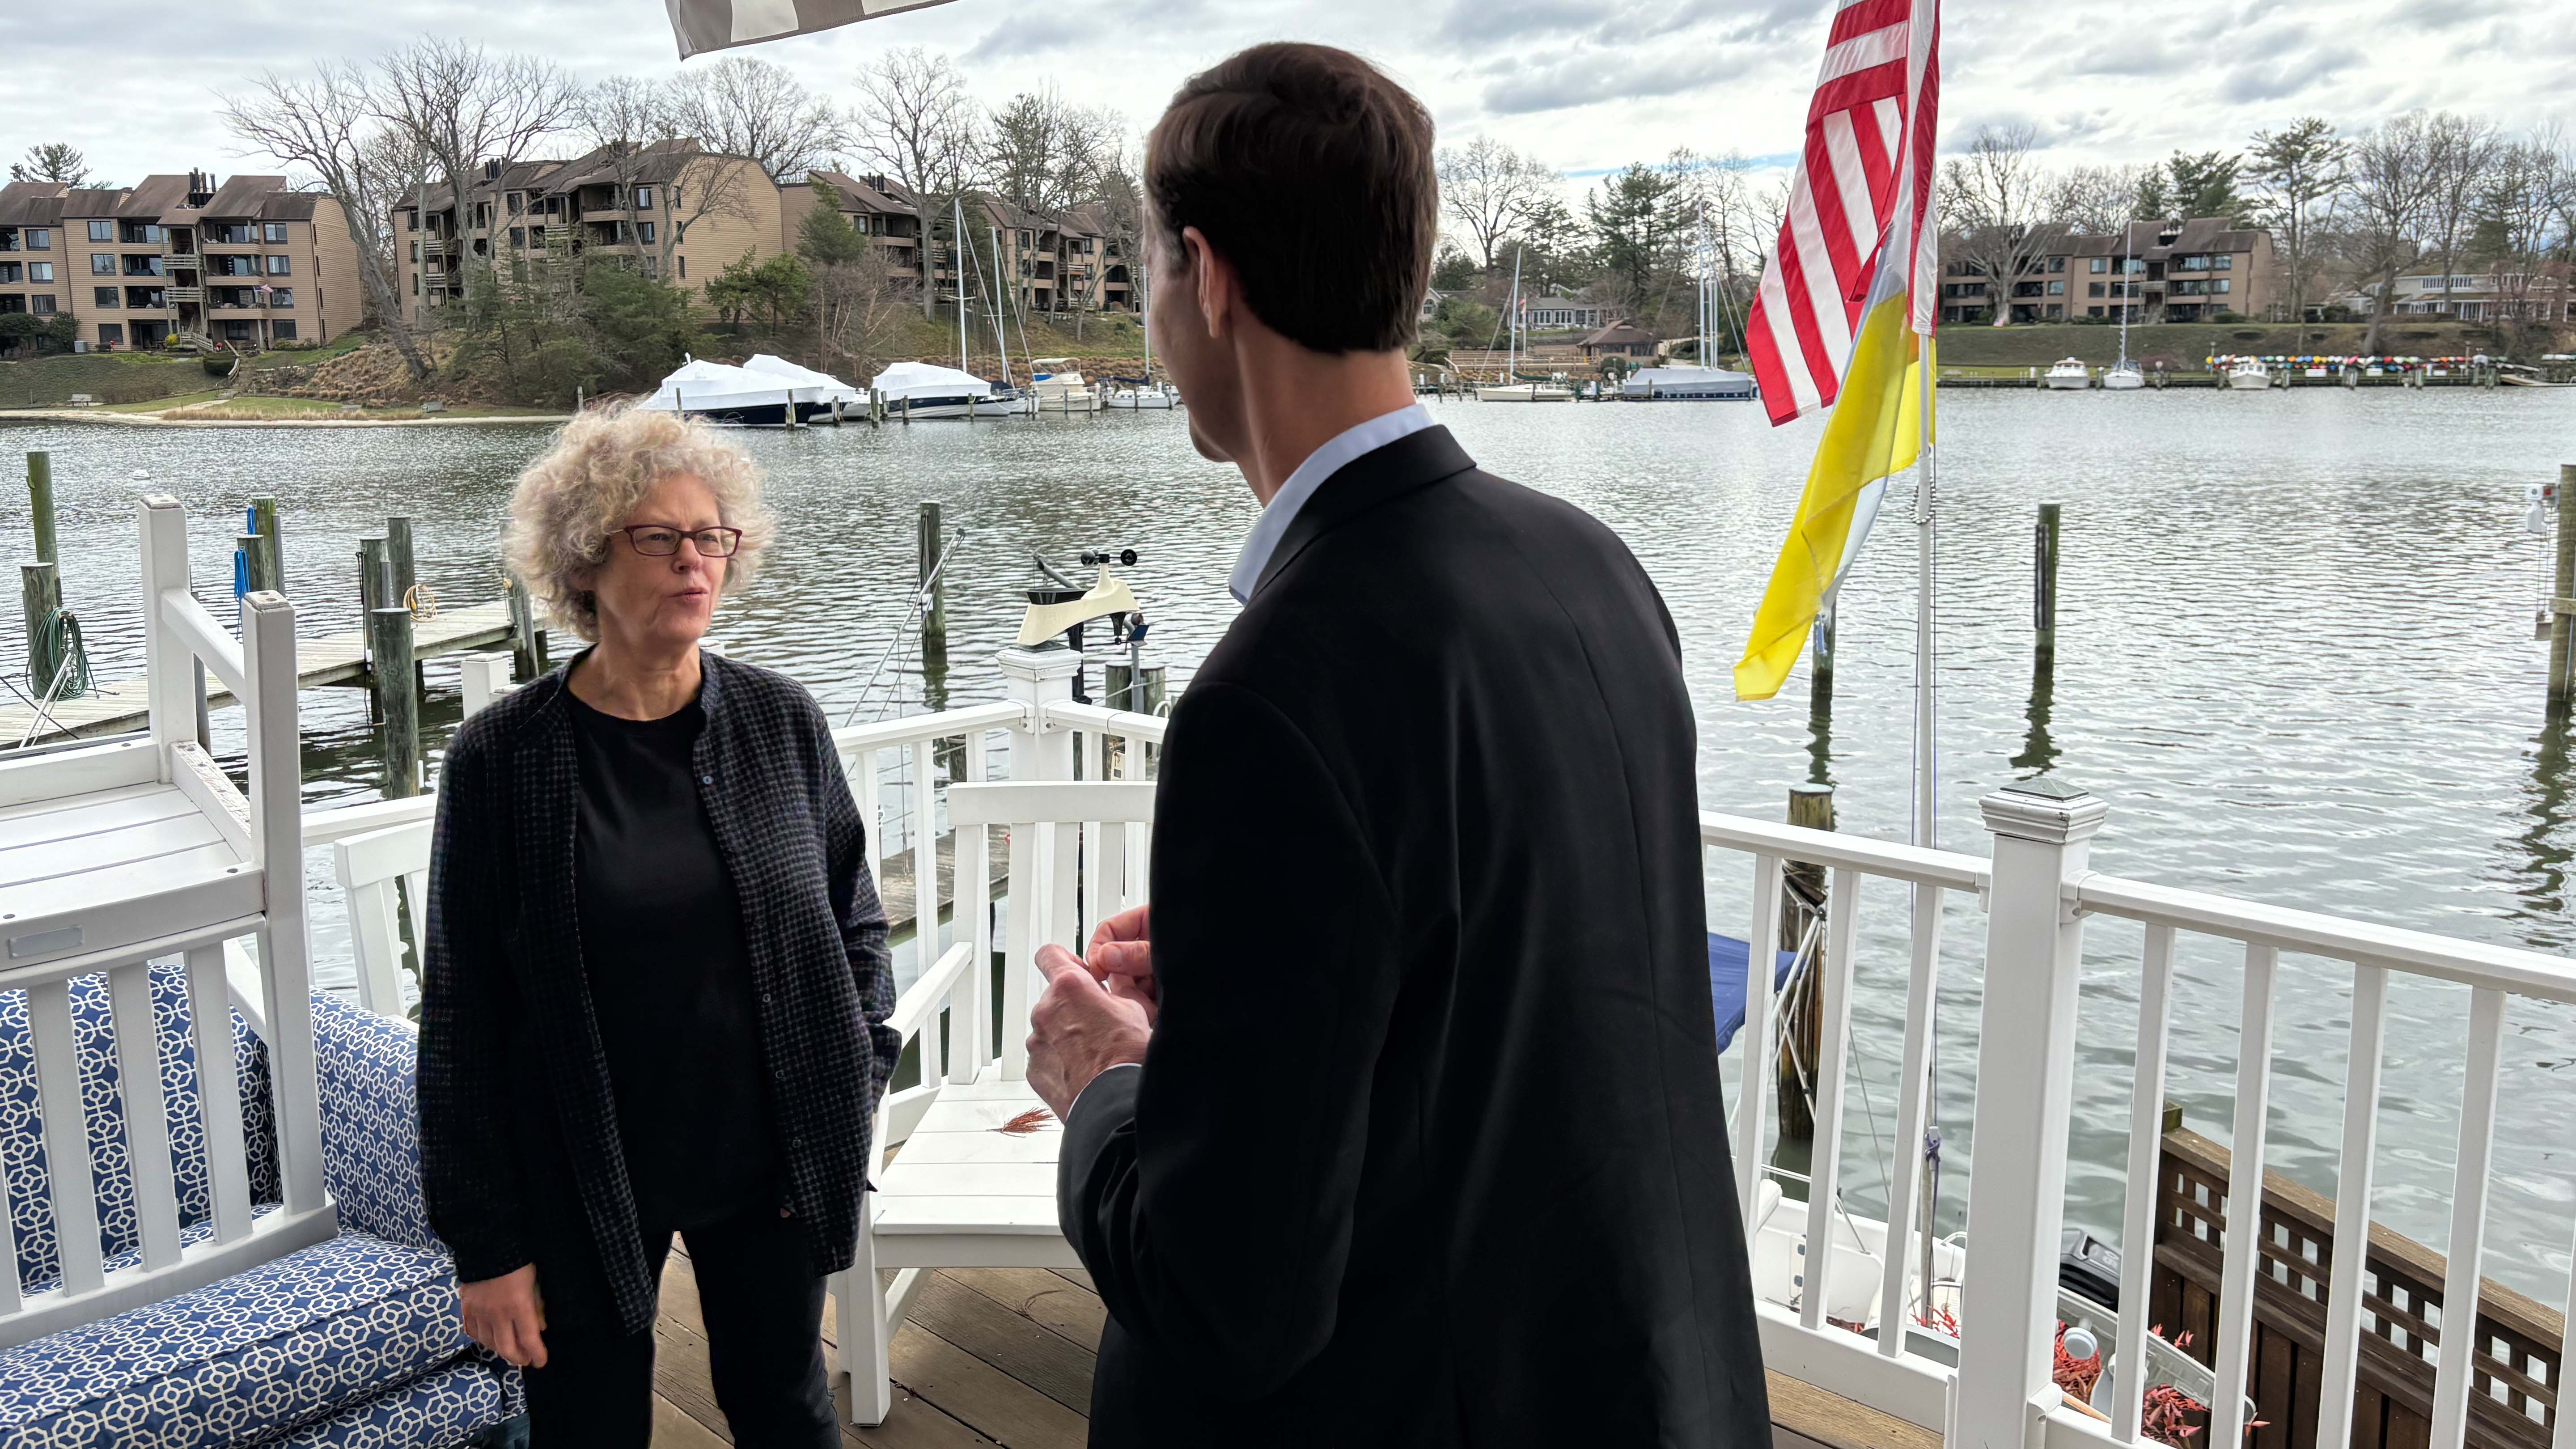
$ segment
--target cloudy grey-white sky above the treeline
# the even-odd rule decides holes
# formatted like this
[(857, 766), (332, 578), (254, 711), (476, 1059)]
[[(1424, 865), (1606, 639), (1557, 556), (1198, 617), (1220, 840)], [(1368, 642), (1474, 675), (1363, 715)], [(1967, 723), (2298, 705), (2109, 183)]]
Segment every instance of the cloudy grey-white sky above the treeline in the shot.
[[(1582, 188), (1677, 144), (1785, 157), (1829, 13), (1829, 0), (956, 0), (737, 54), (845, 98), (878, 49), (927, 46), (987, 101), (1054, 83), (1141, 129), (1234, 46), (1329, 41), (1430, 101), (1443, 139), (1502, 137)], [(2347, 129), (2414, 106), (2576, 124), (2566, 0), (1953, 0), (1945, 23), (1945, 139), (2030, 121), (2061, 165), (2233, 150), (2298, 113)], [(582, 77), (677, 67), (659, 0), (8, 0), (0, 155), (67, 139), (118, 183), (263, 170), (216, 124), (227, 77), (366, 59), (415, 34), (538, 52)]]

